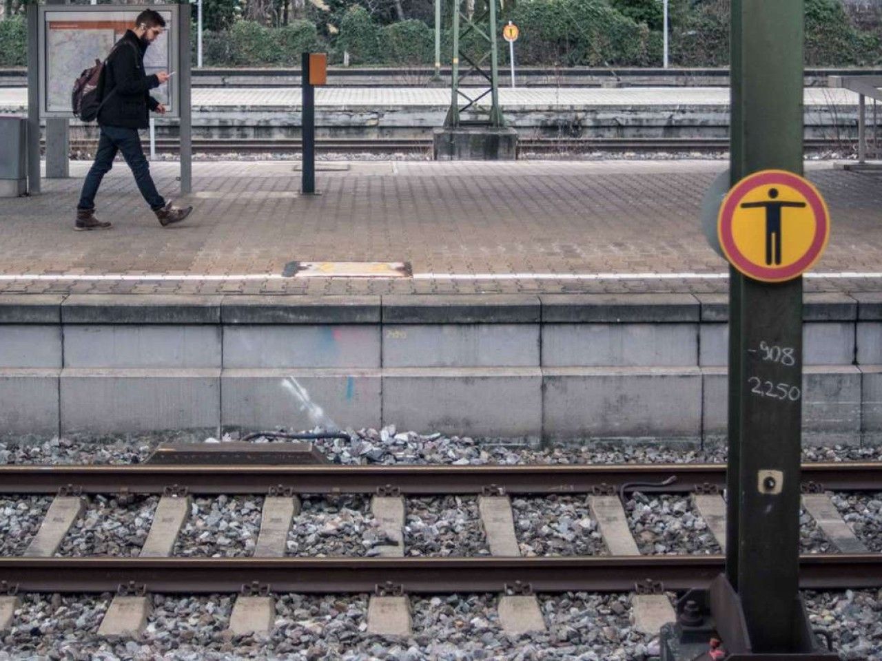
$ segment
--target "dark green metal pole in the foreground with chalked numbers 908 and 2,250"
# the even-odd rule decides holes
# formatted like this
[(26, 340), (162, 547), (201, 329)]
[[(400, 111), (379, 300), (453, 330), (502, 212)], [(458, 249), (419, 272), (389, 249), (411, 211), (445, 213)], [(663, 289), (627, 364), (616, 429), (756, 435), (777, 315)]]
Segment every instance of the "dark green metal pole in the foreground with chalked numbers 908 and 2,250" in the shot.
[[(802, 175), (804, 0), (732, 0), (731, 48), (733, 184), (765, 169)], [(727, 571), (736, 574), (753, 651), (788, 652), (797, 648), (801, 621), (802, 398), (761, 391), (766, 383), (803, 387), (803, 282), (773, 285), (733, 273), (729, 291), (730, 486), (737, 475), (729, 500), (739, 512), (729, 524), (737, 548), (728, 561), (736, 564)], [(763, 360), (761, 342), (793, 360)]]

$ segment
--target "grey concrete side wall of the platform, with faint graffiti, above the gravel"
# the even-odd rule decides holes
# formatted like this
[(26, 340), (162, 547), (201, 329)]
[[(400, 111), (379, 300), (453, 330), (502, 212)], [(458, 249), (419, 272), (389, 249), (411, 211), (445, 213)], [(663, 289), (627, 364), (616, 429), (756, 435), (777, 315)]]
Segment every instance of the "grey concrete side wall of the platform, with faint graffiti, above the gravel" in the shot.
[[(0, 435), (726, 433), (721, 295), (0, 296)], [(808, 294), (804, 438), (882, 442), (882, 296)]]

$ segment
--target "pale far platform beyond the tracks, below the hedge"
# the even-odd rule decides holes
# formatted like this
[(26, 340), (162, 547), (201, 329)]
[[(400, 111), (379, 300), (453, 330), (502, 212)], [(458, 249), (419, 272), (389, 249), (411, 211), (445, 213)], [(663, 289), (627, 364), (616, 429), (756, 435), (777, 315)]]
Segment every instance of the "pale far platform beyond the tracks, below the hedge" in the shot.
[[(479, 91), (466, 90), (475, 97)], [(196, 88), (192, 92), (193, 136), (263, 139), (299, 137), (301, 92), (297, 87)], [(729, 129), (728, 87), (500, 87), (505, 122), (522, 137), (709, 137)], [(489, 98), (475, 106), (486, 115)], [(856, 93), (806, 88), (805, 135), (856, 135)], [(0, 112), (24, 114), (25, 88), (0, 88)], [(441, 127), (450, 91), (420, 87), (319, 87), (318, 137), (430, 137)], [(72, 123), (79, 137), (95, 126)], [(156, 117), (157, 135), (176, 136), (177, 121)]]

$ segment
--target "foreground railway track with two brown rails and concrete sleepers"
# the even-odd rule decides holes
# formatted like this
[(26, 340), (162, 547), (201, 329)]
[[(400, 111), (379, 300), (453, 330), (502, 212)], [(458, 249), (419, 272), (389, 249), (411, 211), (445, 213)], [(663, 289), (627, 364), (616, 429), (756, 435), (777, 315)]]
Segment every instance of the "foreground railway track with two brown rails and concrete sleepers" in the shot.
[[(162, 642), (156, 627), (164, 627), (166, 635), (185, 636), (192, 632), (195, 619), (187, 609), (177, 610), (177, 606), (172, 606), (177, 614), (171, 622), (162, 615), (151, 620), (151, 613), (153, 609), (162, 613), (162, 605), (169, 599), (173, 604), (177, 603), (175, 599), (182, 599), (191, 605), (207, 608), (206, 604), (211, 604), (212, 609), (223, 609), (226, 614), (211, 614), (213, 610), (209, 610), (199, 621), (203, 623), (200, 626), (212, 628), (217, 634), (224, 629), (225, 640), (257, 634), (269, 636), (276, 641), (273, 645), (287, 649), (280, 641), (286, 640), (288, 634), (284, 632), (291, 627), (299, 632), (295, 640), (301, 641), (306, 639), (304, 636), (313, 640), (310, 636), (318, 635), (315, 632), (331, 630), (331, 625), (323, 629), (315, 620), (309, 623), (309, 630), (297, 628), (306, 611), (292, 611), (292, 604), (318, 604), (303, 601), (318, 599), (328, 605), (329, 613), (347, 613), (340, 616), (344, 619), (361, 618), (357, 630), (374, 637), (358, 640), (374, 641), (371, 645), (377, 644), (377, 636), (380, 640), (392, 636), (395, 641), (401, 636), (418, 635), (417, 628), (426, 626), (427, 618), (431, 620), (430, 611), (438, 605), (453, 603), (454, 613), (460, 608), (465, 613), (466, 604), (474, 603), (481, 614), (476, 620), (464, 618), (456, 626), (465, 627), (467, 622), (475, 626), (482, 617), (495, 618), (498, 630), (505, 635), (531, 632), (545, 636), (541, 640), (549, 641), (545, 644), (551, 647), (562, 640), (558, 636), (572, 640), (577, 629), (585, 634), (580, 640), (591, 640), (588, 632), (594, 624), (572, 628), (560, 624), (568, 621), (565, 613), (572, 613), (568, 606), (572, 599), (585, 599), (579, 603), (602, 605), (603, 610), (595, 612), (592, 621), (617, 621), (623, 632), (633, 632), (619, 635), (619, 640), (628, 641), (632, 652), (642, 650), (635, 652), (634, 658), (651, 659), (657, 654), (652, 650), (659, 644), (653, 641), (660, 627), (677, 617), (669, 593), (707, 588), (725, 569), (721, 553), (650, 554), (646, 547), (641, 553), (638, 519), (630, 524), (625, 511), (630, 509), (631, 516), (637, 516), (641, 499), (683, 501), (691, 497), (695, 511), (706, 521), (702, 538), (715, 540), (714, 544), (724, 550), (724, 464), (343, 465), (326, 461), (310, 446), (236, 442), (161, 446), (139, 464), (0, 466), (0, 499), (24, 496), (27, 508), (39, 507), (45, 512), (41, 522), (32, 526), (30, 538), (22, 540), (26, 547), (7, 544), (5, 548), (19, 550), (0, 557), (0, 629), (12, 631), (5, 640), (19, 645), (37, 640), (34, 632), (41, 629), (34, 624), (46, 621), (41, 620), (40, 613), (46, 612), (41, 604), (49, 604), (49, 612), (53, 605), (60, 604), (64, 612), (72, 608), (83, 613), (78, 621), (93, 622), (92, 633), (78, 633), (81, 642), (77, 645), (100, 645), (108, 635), (117, 636), (116, 640), (121, 636), (123, 642), (117, 644), (125, 645), (128, 653), (128, 646), (135, 643), (124, 641), (143, 635), (151, 645), (174, 646), (170, 639)], [(274, 464), (277, 462), (282, 464)], [(804, 507), (837, 553), (802, 555), (801, 587), (856, 590), (872, 604), (871, 590), (882, 589), (882, 553), (871, 553), (844, 522), (833, 520), (830, 510), (835, 506), (826, 492), (859, 495), (882, 491), (882, 462), (804, 464), (802, 479)], [(200, 557), (180, 557), (189, 553), (189, 545), (203, 544), (198, 539), (206, 534), (219, 536), (221, 530), (226, 530), (218, 522), (206, 524), (206, 513), (219, 511), (206, 502), (221, 499), (255, 503), (250, 510), (260, 510), (259, 527), (253, 518), (248, 525), (249, 537), (256, 537), (256, 544), (250, 551), (244, 550), (247, 545), (240, 545), (239, 550), (227, 548), (220, 553), (223, 557), (202, 557), (214, 554), (215, 548), (221, 549), (217, 546), (220, 542), (215, 542), (194, 553)], [(480, 521), (470, 522), (467, 530), (442, 527), (434, 534), (450, 538), (455, 533), (459, 538), (469, 537), (469, 530), (478, 530), (483, 535), (483, 550), (476, 550), (471, 541), (456, 541), (452, 545), (455, 555), (430, 555), (427, 549), (434, 548), (435, 542), (432, 539), (427, 543), (427, 539), (434, 529), (430, 526), (429, 531), (414, 532), (412, 516), (421, 519), (427, 516), (426, 508), (450, 507), (452, 499), (475, 503), (459, 511)], [(332, 501), (337, 504), (316, 504)], [(548, 508), (549, 501), (581, 504), (577, 509), (567, 509), (572, 505), (564, 503), (564, 509), (555, 509), (557, 506)], [(6, 511), (8, 502), (4, 504)], [(355, 528), (355, 543), (363, 541), (361, 551), (352, 552), (355, 546), (350, 542), (350, 546), (344, 544), (350, 549), (345, 554), (320, 557), (325, 549), (335, 547), (337, 540), (312, 544), (303, 539), (303, 546), (289, 546), (292, 535), (297, 538), (315, 531), (316, 525), (326, 525), (316, 523), (323, 516), (330, 517), (326, 522), (346, 520), (350, 515), (344, 513), (340, 502), (355, 503), (345, 508), (363, 512), (363, 520), (370, 520), (372, 527)], [(103, 505), (89, 509), (96, 503)], [(133, 549), (137, 546), (136, 557), (119, 554), (125, 553), (121, 551), (125, 547), (112, 545), (105, 548), (115, 548), (117, 554), (105, 551), (103, 555), (88, 555), (82, 550), (88, 545), (73, 543), (75, 538), (93, 534), (91, 531), (96, 529), (90, 528), (88, 521), (96, 516), (111, 519), (117, 516), (116, 509), (130, 508), (127, 511), (134, 516), (119, 514), (115, 519), (115, 525), (125, 528), (128, 524), (121, 522), (144, 516), (145, 508), (153, 507), (146, 538), (127, 542)], [(581, 555), (543, 554), (549, 553), (549, 546), (533, 557), (522, 557), (521, 549), (525, 547), (519, 546), (524, 541), (521, 536), (534, 534), (533, 529), (523, 527), (524, 517), (538, 517), (542, 524), (555, 525), (557, 517), (563, 515), (549, 514), (552, 511), (568, 512), (576, 519), (590, 517), (594, 527), (578, 528), (576, 534), (588, 535), (592, 530), (597, 537), (599, 533), (600, 546), (592, 546), (594, 542), (579, 546), (577, 539), (572, 548), (580, 549)], [(301, 514), (305, 519), (299, 517)], [(436, 519), (426, 520), (440, 522), (443, 518), (441, 513)], [(304, 520), (312, 521), (313, 528)], [(585, 520), (579, 519), (579, 525)], [(520, 535), (515, 521), (519, 522)], [(225, 525), (235, 522), (227, 520)], [(337, 535), (340, 529), (334, 525), (319, 534)], [(123, 535), (131, 535), (131, 529)], [(239, 539), (241, 542), (243, 538)], [(526, 541), (535, 546), (534, 541)], [(378, 546), (369, 546), (369, 542)], [(96, 542), (91, 548), (100, 544)], [(438, 547), (448, 551), (452, 548)], [(684, 547), (695, 549), (691, 543)], [(586, 550), (594, 548), (603, 550)], [(289, 555), (292, 549), (293, 553), (306, 555)], [(364, 555), (356, 557), (355, 553)], [(445, 594), (450, 596), (437, 596)], [(830, 593), (816, 594), (823, 599)], [(613, 610), (607, 610), (608, 606)], [(93, 614), (87, 617), (86, 613)], [(415, 620), (422, 624), (417, 625)], [(152, 622), (149, 626), (148, 621)], [(344, 625), (336, 620), (333, 626), (340, 630)], [(616, 628), (608, 626), (605, 630), (607, 640), (617, 637)], [(836, 635), (821, 633), (828, 641)], [(350, 641), (363, 644), (355, 642), (357, 635), (352, 634)], [(598, 649), (597, 642), (591, 644)], [(578, 649), (573, 648), (573, 653)]]

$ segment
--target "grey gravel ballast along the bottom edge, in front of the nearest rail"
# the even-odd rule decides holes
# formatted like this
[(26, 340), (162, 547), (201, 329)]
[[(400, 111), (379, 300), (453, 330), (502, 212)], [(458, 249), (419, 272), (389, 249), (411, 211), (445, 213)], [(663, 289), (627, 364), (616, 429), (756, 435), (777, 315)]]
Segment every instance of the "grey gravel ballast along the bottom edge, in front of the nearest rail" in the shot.
[[(844, 661), (882, 661), (882, 590), (804, 593), (813, 628), (825, 630)], [(0, 659), (267, 658), (312, 661), (646, 661), (653, 635), (632, 626), (631, 596), (584, 592), (539, 596), (546, 632), (507, 635), (495, 594), (411, 599), (413, 635), (367, 633), (367, 595), (280, 595), (273, 633), (235, 637), (227, 630), (234, 597), (153, 595), (141, 640), (96, 635), (110, 596), (25, 595)]]

